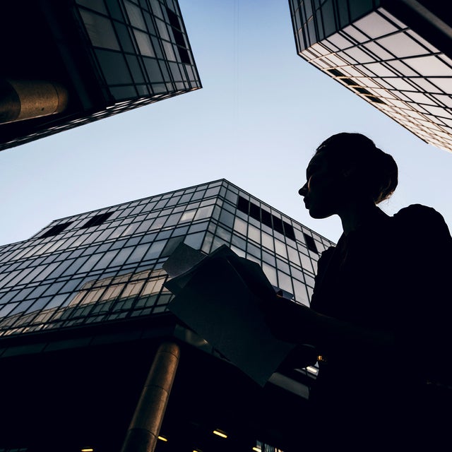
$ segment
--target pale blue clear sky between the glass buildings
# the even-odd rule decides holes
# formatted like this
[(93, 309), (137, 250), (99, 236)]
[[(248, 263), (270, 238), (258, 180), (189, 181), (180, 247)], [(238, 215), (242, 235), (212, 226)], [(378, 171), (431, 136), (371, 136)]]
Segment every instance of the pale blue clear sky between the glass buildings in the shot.
[[(388, 215), (413, 203), (452, 230), (452, 153), (424, 143), (297, 55), (286, 0), (179, 0), (203, 88), (0, 152), (0, 245), (52, 220), (227, 179), (337, 242), (297, 191), (317, 145), (359, 132), (399, 167)], [(0, 127), (1, 131), (1, 127)]]

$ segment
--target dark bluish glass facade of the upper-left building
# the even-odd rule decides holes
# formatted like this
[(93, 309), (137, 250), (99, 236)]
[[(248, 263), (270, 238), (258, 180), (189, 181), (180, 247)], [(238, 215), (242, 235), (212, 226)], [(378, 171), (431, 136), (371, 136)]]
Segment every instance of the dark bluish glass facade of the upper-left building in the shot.
[(76, 11), (114, 102), (201, 88), (177, 1), (76, 0)]

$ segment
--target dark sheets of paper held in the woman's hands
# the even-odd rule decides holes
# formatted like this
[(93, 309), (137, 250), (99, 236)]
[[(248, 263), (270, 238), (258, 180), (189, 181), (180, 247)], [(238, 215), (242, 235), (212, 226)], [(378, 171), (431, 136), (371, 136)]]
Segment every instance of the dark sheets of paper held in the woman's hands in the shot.
[(163, 268), (175, 295), (169, 310), (264, 386), (295, 345), (272, 335), (258, 307), (275, 297), (261, 266), (225, 245), (206, 255), (179, 244)]

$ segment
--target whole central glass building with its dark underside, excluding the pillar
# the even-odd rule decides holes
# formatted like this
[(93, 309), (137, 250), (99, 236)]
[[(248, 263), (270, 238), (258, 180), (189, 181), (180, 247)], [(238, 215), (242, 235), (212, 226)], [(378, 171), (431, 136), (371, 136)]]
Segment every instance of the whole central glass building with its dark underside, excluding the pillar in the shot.
[(261, 388), (177, 321), (162, 264), (182, 242), (205, 254), (230, 246), (303, 304), (332, 244), (220, 179), (1, 246), (0, 450), (119, 451), (168, 340), (180, 359), (155, 450), (299, 450), (316, 369), (277, 371)]

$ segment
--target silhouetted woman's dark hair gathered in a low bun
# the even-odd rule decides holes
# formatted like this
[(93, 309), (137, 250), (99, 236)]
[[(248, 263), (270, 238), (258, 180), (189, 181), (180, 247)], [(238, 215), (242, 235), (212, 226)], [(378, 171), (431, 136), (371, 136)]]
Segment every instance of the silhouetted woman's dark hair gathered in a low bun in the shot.
[(398, 184), (398, 167), (393, 157), (377, 148), (361, 133), (337, 133), (326, 138), (316, 149), (328, 153), (328, 161), (344, 174), (355, 170), (359, 189), (374, 203), (389, 198)]

